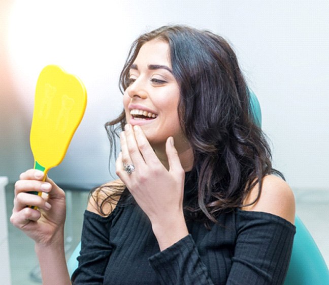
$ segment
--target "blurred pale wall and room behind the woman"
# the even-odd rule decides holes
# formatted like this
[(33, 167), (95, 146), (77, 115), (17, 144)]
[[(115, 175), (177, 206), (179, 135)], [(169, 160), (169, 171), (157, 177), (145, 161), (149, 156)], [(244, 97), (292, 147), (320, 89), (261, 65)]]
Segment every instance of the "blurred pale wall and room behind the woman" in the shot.
[[(211, 30), (234, 47), (260, 102), (274, 165), (293, 189), (298, 213), (328, 263), (328, 15), (329, 2), (324, 0), (2, 0), (0, 176), (9, 179), (8, 218), (13, 183), (34, 163), (29, 130), (42, 68), (60, 65), (79, 76), (88, 93), (85, 116), (67, 155), (49, 172), (70, 193), (70, 211), (79, 220), (86, 205), (85, 190), (112, 179), (104, 123), (122, 109), (118, 77), (131, 42), (161, 25), (187, 24)], [(80, 222), (68, 224), (69, 238), (78, 236), (78, 240)], [(31, 264), (18, 262), (24, 254), (33, 255), (33, 245), (10, 224), (8, 229), (12, 283), (28, 284), (30, 277), (22, 268), (26, 266), (30, 275)]]

